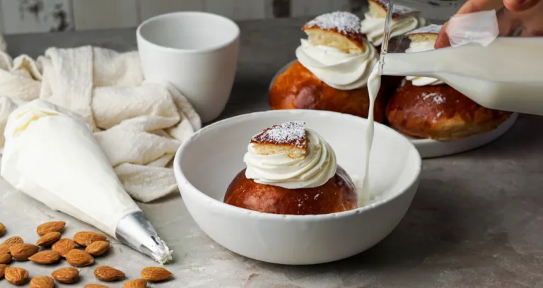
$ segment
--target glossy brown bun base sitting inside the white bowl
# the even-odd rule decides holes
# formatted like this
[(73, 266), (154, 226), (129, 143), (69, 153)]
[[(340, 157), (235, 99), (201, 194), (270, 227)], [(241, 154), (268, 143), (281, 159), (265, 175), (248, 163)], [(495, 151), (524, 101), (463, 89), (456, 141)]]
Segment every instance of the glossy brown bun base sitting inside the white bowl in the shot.
[(301, 189), (257, 184), (245, 177), (243, 169), (228, 186), (224, 203), (282, 215), (320, 215), (357, 208), (356, 188), (340, 167), (324, 185)]

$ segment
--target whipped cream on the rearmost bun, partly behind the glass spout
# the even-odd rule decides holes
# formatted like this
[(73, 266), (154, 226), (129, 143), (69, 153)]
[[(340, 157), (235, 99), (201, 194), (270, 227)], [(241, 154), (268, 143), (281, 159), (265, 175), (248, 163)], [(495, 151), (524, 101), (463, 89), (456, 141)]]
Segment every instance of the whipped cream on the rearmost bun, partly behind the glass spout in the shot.
[[(390, 23), (390, 38), (404, 35), (425, 24), (426, 20), (417, 16), (400, 16), (397, 19), (392, 19)], [(374, 46), (383, 44), (385, 18), (378, 18), (370, 12), (366, 12), (364, 13), (364, 20), (362, 20), (360, 25), (360, 31), (366, 34), (371, 44)]]

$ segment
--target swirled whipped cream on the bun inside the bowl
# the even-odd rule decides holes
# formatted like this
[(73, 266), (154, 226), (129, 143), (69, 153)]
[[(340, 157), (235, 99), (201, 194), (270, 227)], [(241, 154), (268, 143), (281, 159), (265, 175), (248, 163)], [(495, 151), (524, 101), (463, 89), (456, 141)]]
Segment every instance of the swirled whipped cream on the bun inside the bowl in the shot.
[(287, 189), (324, 185), (336, 174), (336, 155), (332, 147), (315, 131), (306, 129), (305, 157), (293, 159), (286, 154), (258, 155), (250, 143), (243, 161), (245, 176), (256, 183)]

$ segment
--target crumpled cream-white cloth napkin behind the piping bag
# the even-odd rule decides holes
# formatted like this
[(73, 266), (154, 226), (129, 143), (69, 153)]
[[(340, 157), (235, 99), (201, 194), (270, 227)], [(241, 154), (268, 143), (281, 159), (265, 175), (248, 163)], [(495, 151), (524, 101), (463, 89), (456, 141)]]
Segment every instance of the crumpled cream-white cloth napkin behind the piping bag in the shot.
[(49, 48), (34, 61), (25, 55), (11, 59), (2, 43), (0, 153), (8, 115), (19, 104), (41, 98), (91, 124), (132, 198), (148, 202), (177, 191), (170, 160), (202, 124), (177, 89), (144, 80), (137, 52)]

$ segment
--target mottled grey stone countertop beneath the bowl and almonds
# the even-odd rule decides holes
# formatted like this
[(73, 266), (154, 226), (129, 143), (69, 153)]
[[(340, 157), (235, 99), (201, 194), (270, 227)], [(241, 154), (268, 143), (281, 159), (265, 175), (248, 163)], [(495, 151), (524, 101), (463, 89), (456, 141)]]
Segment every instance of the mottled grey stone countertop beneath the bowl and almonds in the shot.
[[(293, 59), (303, 23), (303, 19), (240, 23), (238, 74), (221, 119), (269, 109), (269, 81)], [(136, 49), (134, 29), (17, 35), (6, 40), (12, 55), (37, 56), (47, 47), (84, 44)], [(419, 191), (392, 234), (368, 251), (334, 263), (286, 266), (247, 259), (200, 231), (180, 196), (141, 204), (173, 246), (176, 259), (168, 265), (175, 279), (150, 287), (543, 287), (543, 133), (537, 128), (542, 125), (543, 117), (522, 115), (490, 145), (424, 160)], [(5, 191), (6, 183), (0, 181), (0, 189)], [(1, 192), (0, 218), (8, 229), (18, 227), (21, 236), (35, 238), (37, 221), (48, 219), (68, 218), (67, 236), (88, 228), (20, 193)], [(8, 200), (10, 207), (3, 206)], [(21, 206), (14, 209), (14, 203)], [(141, 268), (155, 265), (115, 241), (110, 254), (97, 262), (124, 270), (132, 279)], [(58, 266), (62, 265), (66, 264)], [(52, 270), (32, 263), (21, 266), (31, 276)], [(95, 282), (92, 271), (83, 268), (78, 284), (60, 287)], [(0, 287), (7, 286), (0, 281)]]

